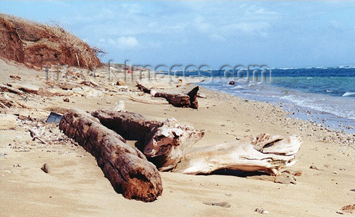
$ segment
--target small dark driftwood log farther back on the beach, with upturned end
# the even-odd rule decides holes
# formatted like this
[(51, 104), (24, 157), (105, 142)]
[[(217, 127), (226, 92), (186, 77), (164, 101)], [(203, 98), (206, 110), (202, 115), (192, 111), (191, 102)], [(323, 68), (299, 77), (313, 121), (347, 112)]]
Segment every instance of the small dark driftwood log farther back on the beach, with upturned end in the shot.
[(192, 108), (192, 109), (199, 108), (199, 103), (197, 101), (197, 92), (199, 91), (198, 86), (194, 87), (194, 89), (192, 89), (188, 94), (170, 94), (166, 92), (156, 92), (153, 89), (144, 87), (139, 82), (137, 82), (137, 87), (142, 92), (151, 94), (153, 97), (163, 97), (169, 102), (169, 104), (172, 104), (175, 107)]

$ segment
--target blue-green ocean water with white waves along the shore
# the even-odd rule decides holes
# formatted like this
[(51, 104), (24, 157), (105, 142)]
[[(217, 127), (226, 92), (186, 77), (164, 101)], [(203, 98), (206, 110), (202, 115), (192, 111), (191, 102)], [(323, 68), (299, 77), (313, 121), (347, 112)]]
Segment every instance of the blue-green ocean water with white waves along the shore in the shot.
[[(355, 133), (355, 67), (273, 68), (263, 77), (259, 70), (257, 79), (256, 73), (254, 77), (251, 74), (249, 80), (246, 73), (232, 77), (232, 73), (219, 70), (200, 74), (189, 71), (186, 76), (202, 75), (205, 81), (201, 86), (244, 99), (268, 101), (289, 111), (291, 117)], [(235, 85), (229, 85), (230, 80)]]

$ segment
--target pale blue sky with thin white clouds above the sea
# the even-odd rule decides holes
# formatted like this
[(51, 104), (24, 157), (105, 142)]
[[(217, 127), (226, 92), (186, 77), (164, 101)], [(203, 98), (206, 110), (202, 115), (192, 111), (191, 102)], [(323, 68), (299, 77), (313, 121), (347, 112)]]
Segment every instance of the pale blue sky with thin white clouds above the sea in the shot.
[(0, 1), (108, 54), (168, 67), (355, 66), (355, 1)]

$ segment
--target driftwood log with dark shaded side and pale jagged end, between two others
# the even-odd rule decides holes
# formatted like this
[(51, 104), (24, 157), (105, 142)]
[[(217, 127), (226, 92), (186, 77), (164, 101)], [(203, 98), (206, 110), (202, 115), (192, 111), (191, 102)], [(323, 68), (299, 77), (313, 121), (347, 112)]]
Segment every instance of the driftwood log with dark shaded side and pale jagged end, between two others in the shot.
[(187, 149), (204, 136), (203, 130), (180, 125), (174, 118), (164, 121), (148, 120), (130, 111), (100, 109), (92, 116), (107, 128), (115, 130), (126, 140), (137, 140), (149, 161), (159, 171), (169, 171), (181, 161)]

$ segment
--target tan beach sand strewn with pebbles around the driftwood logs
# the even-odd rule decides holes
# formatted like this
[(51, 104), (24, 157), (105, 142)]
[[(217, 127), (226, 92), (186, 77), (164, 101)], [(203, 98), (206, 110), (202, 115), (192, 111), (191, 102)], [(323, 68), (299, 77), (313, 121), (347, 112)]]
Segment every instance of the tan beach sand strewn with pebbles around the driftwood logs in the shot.
[[(46, 87), (42, 71), (0, 61), (0, 73), (1, 84), (20, 82)], [(18, 75), (21, 80), (13, 80), (10, 75)], [(132, 101), (120, 92), (104, 97), (70, 96), (69, 102), (63, 101), (66, 97), (31, 94), (28, 99), (20, 99), (16, 94), (6, 94), (39, 109), (30, 116), (44, 119), (49, 111), (41, 109), (48, 107), (94, 111), (122, 100), (127, 110), (149, 118), (173, 117), (180, 123), (205, 129), (205, 137), (194, 147), (232, 142), (261, 132), (300, 135), (303, 144), (298, 162), (289, 167), (302, 171), (297, 184), (282, 185), (236, 175), (161, 173), (163, 195), (155, 202), (128, 200), (113, 190), (94, 157), (67, 140), (56, 125), (18, 120), (15, 128), (0, 130), (0, 216), (259, 216), (255, 210), (261, 208), (270, 216), (336, 216), (342, 206), (354, 204), (354, 135), (288, 118), (280, 107), (271, 104), (208, 89), (200, 92), (207, 98), (199, 98), (197, 110)], [(47, 144), (32, 141), (26, 128), (36, 125), (46, 133)], [(44, 163), (50, 166), (50, 173), (41, 170)], [(213, 206), (218, 203), (221, 206)]]

